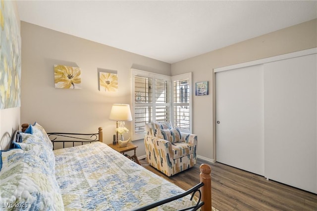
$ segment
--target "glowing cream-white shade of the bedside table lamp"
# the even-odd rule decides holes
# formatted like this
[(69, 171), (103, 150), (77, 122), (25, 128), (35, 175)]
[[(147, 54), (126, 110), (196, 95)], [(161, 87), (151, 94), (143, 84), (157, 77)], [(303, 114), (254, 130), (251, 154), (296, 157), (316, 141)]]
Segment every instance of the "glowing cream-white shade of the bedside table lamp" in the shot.
[(109, 116), (112, 121), (132, 121), (130, 105), (129, 104), (113, 104)]

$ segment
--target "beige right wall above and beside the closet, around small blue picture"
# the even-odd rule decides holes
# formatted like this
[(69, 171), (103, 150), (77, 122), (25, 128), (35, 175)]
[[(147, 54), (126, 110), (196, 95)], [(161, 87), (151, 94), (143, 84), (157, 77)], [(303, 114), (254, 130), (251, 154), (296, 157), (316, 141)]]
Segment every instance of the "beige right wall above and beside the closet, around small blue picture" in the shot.
[[(171, 65), (171, 75), (193, 72), (193, 84), (209, 81), (210, 94), (193, 96), (193, 132), (198, 155), (213, 159), (212, 70), (275, 55), (317, 47), (317, 20), (281, 29)], [(206, 118), (207, 117), (207, 118)]]

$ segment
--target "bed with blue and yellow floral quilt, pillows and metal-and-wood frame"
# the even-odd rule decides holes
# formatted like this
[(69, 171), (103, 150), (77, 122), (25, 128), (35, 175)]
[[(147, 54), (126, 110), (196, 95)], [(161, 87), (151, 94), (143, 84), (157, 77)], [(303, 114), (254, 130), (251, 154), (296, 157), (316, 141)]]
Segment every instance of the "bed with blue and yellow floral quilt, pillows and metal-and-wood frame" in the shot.
[(103, 143), (101, 127), (82, 134), (22, 126), (1, 151), (4, 210), (211, 210), (208, 165), (202, 182), (184, 191)]

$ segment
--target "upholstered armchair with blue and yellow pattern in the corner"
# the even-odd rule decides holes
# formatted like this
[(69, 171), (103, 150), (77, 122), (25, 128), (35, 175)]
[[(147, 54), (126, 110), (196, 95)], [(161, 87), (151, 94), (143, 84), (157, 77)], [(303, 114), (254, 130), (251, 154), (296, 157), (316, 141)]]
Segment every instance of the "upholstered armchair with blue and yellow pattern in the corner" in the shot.
[(151, 166), (172, 176), (196, 165), (197, 135), (167, 122), (147, 124), (146, 131), (145, 151)]

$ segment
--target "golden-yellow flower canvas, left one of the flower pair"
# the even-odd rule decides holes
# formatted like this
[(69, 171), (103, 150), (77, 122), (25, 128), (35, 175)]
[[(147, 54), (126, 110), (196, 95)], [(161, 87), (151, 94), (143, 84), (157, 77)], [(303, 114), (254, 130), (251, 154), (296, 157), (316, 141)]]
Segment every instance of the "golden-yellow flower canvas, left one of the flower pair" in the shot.
[(55, 88), (81, 88), (79, 67), (54, 65)]

